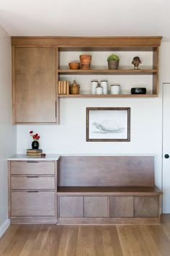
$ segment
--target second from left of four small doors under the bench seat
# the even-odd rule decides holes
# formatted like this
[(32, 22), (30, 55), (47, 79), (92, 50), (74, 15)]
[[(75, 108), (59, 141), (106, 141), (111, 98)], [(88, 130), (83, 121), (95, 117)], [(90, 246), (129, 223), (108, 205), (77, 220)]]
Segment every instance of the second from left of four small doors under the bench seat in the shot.
[(107, 217), (107, 197), (84, 197), (84, 217)]

